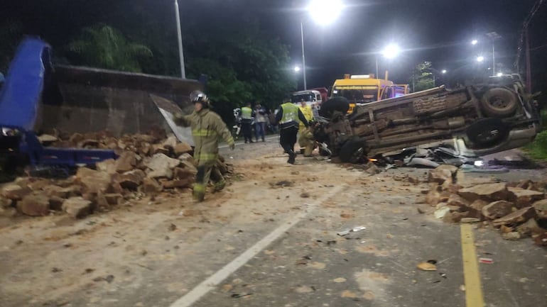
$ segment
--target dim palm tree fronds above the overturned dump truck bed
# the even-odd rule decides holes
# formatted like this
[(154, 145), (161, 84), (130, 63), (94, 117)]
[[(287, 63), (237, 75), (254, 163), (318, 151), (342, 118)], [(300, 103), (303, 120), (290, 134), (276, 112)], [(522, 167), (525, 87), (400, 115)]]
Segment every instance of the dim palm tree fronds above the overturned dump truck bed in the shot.
[(80, 38), (69, 43), (67, 49), (83, 65), (126, 72), (141, 72), (139, 60), (152, 57), (148, 47), (129, 42), (119, 30), (104, 24), (84, 28)]

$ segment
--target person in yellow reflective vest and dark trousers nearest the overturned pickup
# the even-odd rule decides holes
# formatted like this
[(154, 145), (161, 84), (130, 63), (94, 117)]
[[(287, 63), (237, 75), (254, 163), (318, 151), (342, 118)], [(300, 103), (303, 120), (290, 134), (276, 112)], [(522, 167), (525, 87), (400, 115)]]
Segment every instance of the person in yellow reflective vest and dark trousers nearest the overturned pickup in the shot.
[(296, 104), (288, 101), (279, 106), (276, 114), (276, 123), (279, 123), (279, 144), (288, 153), (287, 163), (290, 164), (294, 164), (296, 158), (294, 145), (300, 122), (308, 127), (308, 121), (306, 121), (304, 114)]

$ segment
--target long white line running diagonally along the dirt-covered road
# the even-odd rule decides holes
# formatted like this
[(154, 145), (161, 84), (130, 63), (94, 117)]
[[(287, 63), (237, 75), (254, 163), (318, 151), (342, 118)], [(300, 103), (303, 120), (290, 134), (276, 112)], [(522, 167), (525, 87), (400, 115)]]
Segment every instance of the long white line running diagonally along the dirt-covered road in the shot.
[[(330, 191), (330, 193), (325, 194), (323, 197), (318, 199), (318, 203), (323, 203), (323, 201), (326, 201), (330, 197), (339, 193), (344, 188), (345, 186), (337, 186), (335, 189)], [(242, 255), (239, 255), (236, 259), (232, 260), (229, 264), (226, 264), (215, 274), (212, 274), (209, 278), (202, 281), (201, 284), (198, 284), (194, 289), (188, 292), (188, 294), (179, 298), (170, 307), (192, 306), (193, 303), (202, 298), (202, 296), (207, 294), (207, 292), (215, 289), (215, 286), (218, 286), (224, 279), (227, 279), (227, 277), (229, 277), (232, 273), (236, 272), (240, 267), (249, 262), (249, 260), (256, 256), (256, 254), (261, 252), (261, 250), (264, 250), (264, 248), (270, 245), (271, 242), (277, 240), (277, 238), (283, 235), (283, 233), (291, 229), (317, 207), (318, 205), (308, 204), (308, 208), (296, 214), (296, 216), (288, 218), (278, 228), (269, 233), (269, 235), (266, 235), (266, 237), (262, 238), (259, 242), (256, 242), (256, 244), (249, 248), (249, 250), (246, 250), (242, 253)]]

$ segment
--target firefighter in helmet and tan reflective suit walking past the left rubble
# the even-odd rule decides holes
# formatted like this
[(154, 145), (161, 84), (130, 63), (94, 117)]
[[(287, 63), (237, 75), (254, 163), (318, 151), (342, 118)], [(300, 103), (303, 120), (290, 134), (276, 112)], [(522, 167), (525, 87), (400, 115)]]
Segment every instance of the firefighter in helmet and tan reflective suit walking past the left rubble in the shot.
[(211, 173), (212, 179), (216, 181), (215, 191), (220, 191), (226, 186), (222, 173), (216, 167), (219, 135), (228, 143), (231, 150), (234, 150), (235, 143), (222, 118), (210, 110), (210, 101), (202, 91), (193, 91), (190, 94), (190, 101), (194, 104), (194, 111), (190, 115), (177, 113), (173, 119), (177, 125), (192, 128), (194, 160), (197, 162), (192, 196), (196, 201), (203, 201)]

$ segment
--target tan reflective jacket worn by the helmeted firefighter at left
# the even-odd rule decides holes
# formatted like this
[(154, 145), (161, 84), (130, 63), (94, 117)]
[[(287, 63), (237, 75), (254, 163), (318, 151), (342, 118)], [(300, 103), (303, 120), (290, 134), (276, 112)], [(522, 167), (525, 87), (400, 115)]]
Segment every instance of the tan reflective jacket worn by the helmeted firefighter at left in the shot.
[(222, 118), (208, 108), (190, 115), (175, 114), (173, 120), (177, 125), (192, 128), (194, 160), (198, 165), (217, 161), (219, 138), (222, 137), (228, 145), (234, 144), (234, 138)]

